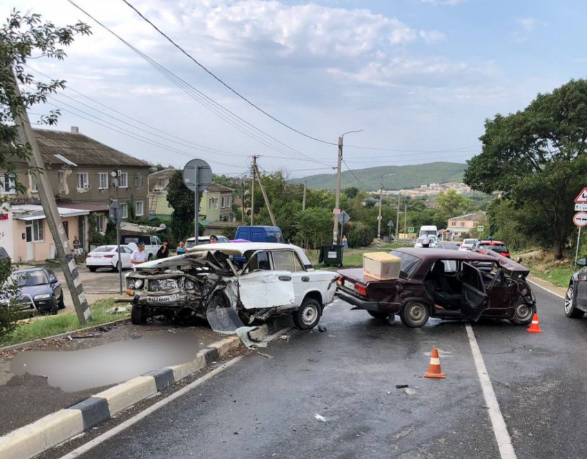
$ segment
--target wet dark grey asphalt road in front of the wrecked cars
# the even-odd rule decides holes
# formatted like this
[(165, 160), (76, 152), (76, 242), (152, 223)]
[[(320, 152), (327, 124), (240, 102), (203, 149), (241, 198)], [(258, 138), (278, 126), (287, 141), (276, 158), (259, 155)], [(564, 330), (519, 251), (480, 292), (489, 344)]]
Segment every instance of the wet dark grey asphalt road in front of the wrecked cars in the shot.
[[(516, 456), (584, 457), (587, 319), (535, 293), (543, 334), (472, 329)], [(271, 343), (273, 358), (246, 356), (80, 457), (500, 457), (465, 323), (407, 329), (350, 309), (333, 303), (327, 332)], [(421, 377), (432, 347), (445, 380)]]

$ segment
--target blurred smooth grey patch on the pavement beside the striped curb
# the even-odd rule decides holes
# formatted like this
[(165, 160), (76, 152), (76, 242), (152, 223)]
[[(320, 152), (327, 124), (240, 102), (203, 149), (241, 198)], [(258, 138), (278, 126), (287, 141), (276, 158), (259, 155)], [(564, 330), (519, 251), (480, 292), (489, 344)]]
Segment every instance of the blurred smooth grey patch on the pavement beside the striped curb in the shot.
[(193, 334), (167, 333), (78, 351), (23, 352), (12, 360), (10, 371), (17, 376), (45, 376), (51, 387), (76, 392), (189, 362), (200, 349)]

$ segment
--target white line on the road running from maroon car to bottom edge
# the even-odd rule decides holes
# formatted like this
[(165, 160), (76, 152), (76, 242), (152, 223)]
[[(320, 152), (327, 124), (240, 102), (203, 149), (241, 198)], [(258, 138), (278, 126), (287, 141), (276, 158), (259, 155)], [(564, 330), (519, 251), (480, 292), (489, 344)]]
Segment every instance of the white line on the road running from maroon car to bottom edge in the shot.
[(499, 403), (497, 402), (497, 397), (493, 391), (493, 386), (487, 368), (485, 368), (483, 356), (481, 356), (481, 351), (479, 350), (479, 345), (477, 345), (477, 339), (475, 338), (471, 324), (465, 324), (465, 329), (467, 329), (467, 336), (469, 337), (473, 360), (475, 361), (475, 367), (477, 367), (477, 375), (479, 376), (479, 382), (481, 383), (485, 405), (488, 407), (489, 418), (493, 426), (495, 439), (497, 440), (497, 447), (499, 447), (499, 454), (501, 459), (516, 459), (516, 452), (512, 445), (512, 439), (508, 433), (506, 421), (503, 420), (503, 416), (501, 416)]

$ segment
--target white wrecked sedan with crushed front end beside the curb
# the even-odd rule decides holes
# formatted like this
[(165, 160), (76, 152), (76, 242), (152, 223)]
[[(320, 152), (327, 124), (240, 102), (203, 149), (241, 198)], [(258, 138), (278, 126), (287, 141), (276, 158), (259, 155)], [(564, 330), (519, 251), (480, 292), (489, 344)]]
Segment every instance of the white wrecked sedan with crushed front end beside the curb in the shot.
[(334, 299), (338, 274), (316, 271), (300, 247), (275, 243), (221, 243), (135, 266), (126, 275), (132, 321), (149, 316), (210, 320), (238, 313), (244, 324), (292, 314), (300, 329), (320, 321)]

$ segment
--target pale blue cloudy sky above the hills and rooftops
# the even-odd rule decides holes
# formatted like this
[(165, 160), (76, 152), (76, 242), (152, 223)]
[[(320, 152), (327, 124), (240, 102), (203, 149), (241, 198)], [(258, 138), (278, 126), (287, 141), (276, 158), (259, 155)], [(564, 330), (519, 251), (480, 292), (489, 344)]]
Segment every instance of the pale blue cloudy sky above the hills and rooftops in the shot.
[(68, 86), (31, 121), (60, 108), (59, 130), (78, 126), (151, 163), (204, 159), (216, 174), (246, 173), (253, 154), (267, 172), (334, 172), (338, 136), (361, 129), (344, 138), (343, 170), (463, 163), (481, 151), (485, 119), (584, 78), (587, 65), (579, 0), (128, 1), (233, 90), (320, 141), (240, 99), (122, 0), (75, 3), (171, 76), (67, 0), (0, 0), (3, 17), (16, 8), (92, 27), (64, 61), (30, 61), (41, 81), (37, 71)]

